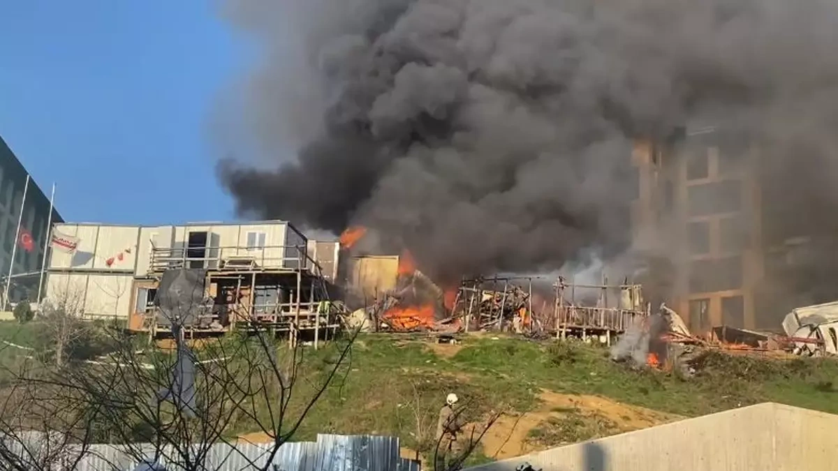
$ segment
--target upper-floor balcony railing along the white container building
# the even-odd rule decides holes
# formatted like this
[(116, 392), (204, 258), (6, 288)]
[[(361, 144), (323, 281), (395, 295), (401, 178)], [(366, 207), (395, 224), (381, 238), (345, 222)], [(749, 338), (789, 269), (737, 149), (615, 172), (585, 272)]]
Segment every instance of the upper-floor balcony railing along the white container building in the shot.
[(183, 246), (152, 247), (149, 272), (180, 268), (204, 268), (218, 271), (296, 271), (320, 266), (308, 256), (307, 246)]

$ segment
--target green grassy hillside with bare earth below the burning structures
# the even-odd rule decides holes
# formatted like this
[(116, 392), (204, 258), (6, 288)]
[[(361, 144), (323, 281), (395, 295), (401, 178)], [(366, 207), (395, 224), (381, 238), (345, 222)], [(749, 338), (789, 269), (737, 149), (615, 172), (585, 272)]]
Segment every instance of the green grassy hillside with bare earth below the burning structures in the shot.
[[(37, 339), (37, 329), (36, 324), (0, 325), (0, 339), (27, 344)], [(318, 376), (329, 370), (335, 351), (307, 349), (305, 355), (292, 406), (296, 411)], [(469, 405), (473, 422), (489, 411), (507, 412), (475, 453), (475, 462), (763, 401), (838, 413), (835, 385), (838, 361), (831, 359), (711, 353), (685, 380), (615, 364), (607, 349), (579, 342), (483, 335), (439, 345), (367, 334), (357, 339), (349, 364), (295, 438), (312, 439), (318, 432), (396, 435), (406, 447), (426, 452), (439, 408), (455, 392)], [(228, 432), (253, 431), (241, 418)]]

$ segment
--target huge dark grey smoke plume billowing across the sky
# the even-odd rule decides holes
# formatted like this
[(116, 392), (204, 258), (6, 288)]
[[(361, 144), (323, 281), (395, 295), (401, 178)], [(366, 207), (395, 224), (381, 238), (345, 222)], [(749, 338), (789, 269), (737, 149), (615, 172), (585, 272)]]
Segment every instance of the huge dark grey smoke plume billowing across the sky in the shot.
[[(228, 0), (224, 14), (264, 58), (225, 108), (240, 138), (225, 155), (257, 157), (220, 164), (238, 210), (367, 225), (437, 275), (621, 250), (631, 138), (693, 119), (766, 144), (768, 172), (805, 153), (805, 178), (836, 174), (828, 0)], [(804, 191), (834, 207), (830, 188)]]

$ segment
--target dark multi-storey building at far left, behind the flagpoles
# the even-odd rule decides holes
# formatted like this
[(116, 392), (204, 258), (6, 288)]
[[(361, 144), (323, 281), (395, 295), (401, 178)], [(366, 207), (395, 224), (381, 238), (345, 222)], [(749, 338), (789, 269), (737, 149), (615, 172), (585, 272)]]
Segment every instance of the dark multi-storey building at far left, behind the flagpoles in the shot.
[[(27, 174), (23, 163), (0, 137), (0, 276), (3, 277), (8, 276), (9, 262), (16, 243), (18, 216)], [(23, 207), (21, 235), (17, 235), (18, 250), (15, 252), (12, 270), (13, 285), (9, 290), (9, 298), (12, 301), (34, 299), (37, 296), (39, 276), (36, 272), (39, 272), (44, 260), (44, 247), (49, 237), (48, 220), (49, 195), (44, 194), (34, 179), (30, 179)], [(53, 209), (52, 221), (64, 221), (58, 210)], [(30, 239), (25, 246), (21, 243), (22, 237)], [(26, 273), (33, 275), (21, 276)]]

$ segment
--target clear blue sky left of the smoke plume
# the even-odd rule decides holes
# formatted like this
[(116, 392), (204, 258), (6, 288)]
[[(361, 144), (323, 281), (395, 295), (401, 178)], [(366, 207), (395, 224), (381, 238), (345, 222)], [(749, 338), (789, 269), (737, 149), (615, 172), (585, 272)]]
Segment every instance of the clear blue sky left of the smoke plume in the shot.
[(209, 109), (246, 65), (210, 0), (0, 6), (0, 136), (65, 220), (233, 219)]

